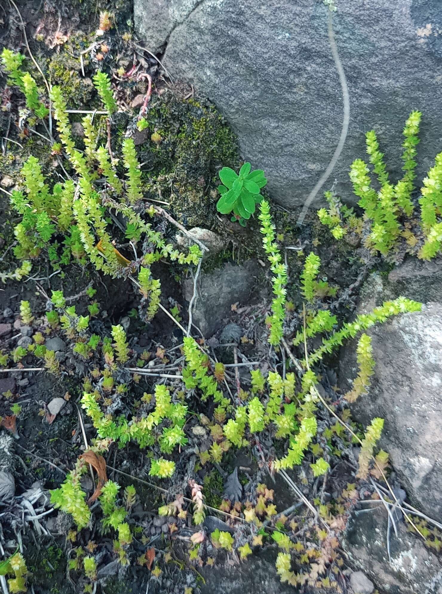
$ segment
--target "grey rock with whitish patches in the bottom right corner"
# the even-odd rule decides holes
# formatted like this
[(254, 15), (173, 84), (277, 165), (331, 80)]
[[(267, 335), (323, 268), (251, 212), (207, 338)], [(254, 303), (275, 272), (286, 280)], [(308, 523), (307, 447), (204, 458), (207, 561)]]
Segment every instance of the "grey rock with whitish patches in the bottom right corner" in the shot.
[(367, 574), (381, 593), (439, 594), (442, 565), (438, 558), (422, 539), (407, 532), (403, 522), (397, 522), (397, 532), (398, 538), (393, 530), (390, 534), (390, 563), (385, 508), (353, 514), (343, 538), (350, 564)]

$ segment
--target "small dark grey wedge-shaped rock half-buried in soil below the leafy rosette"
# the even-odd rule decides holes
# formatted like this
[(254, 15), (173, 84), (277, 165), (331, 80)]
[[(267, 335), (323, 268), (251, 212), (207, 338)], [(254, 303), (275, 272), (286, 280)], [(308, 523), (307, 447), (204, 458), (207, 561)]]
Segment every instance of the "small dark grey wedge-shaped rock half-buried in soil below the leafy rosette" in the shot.
[[(222, 324), (223, 318), (229, 315), (231, 305), (248, 300), (255, 290), (254, 277), (261, 269), (253, 260), (241, 266), (227, 263), (221, 268), (206, 274), (201, 271), (198, 280), (197, 299), (193, 306), (193, 321), (207, 338)], [(184, 282), (184, 298), (190, 301), (193, 295), (193, 280)]]

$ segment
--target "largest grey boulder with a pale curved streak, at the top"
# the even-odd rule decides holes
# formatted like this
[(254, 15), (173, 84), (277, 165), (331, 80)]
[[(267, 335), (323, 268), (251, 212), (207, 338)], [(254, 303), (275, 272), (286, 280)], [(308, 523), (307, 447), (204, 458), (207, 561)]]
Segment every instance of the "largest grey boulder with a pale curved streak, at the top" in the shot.
[[(333, 26), (351, 119), (328, 186), (336, 178), (343, 199), (356, 201), (348, 170), (365, 156), (368, 129), (378, 132), (396, 176), (412, 109), (424, 113), (418, 180), (442, 149), (442, 9), (440, 0), (337, 0), (337, 6)], [(172, 76), (213, 100), (238, 133), (244, 158), (266, 171), (272, 197), (286, 206), (304, 202), (341, 131), (327, 12), (318, 0), (134, 0), (135, 27), (147, 48), (165, 48)]]

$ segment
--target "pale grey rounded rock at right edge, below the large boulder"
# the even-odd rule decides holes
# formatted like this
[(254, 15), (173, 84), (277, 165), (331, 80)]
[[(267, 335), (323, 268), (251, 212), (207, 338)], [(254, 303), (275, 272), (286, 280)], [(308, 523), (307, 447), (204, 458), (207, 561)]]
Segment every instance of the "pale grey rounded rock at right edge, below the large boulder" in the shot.
[[(422, 273), (425, 264), (403, 266), (408, 270), (409, 297), (419, 291), (418, 296), (424, 296), (423, 278), (428, 280), (427, 294), (438, 287), (442, 295), (442, 282)], [(368, 312), (397, 296), (396, 277), (401, 275), (388, 283), (372, 276), (358, 312)], [(438, 516), (442, 513), (441, 302), (428, 302), (422, 312), (399, 315), (368, 333), (375, 373), (369, 393), (352, 405), (353, 415), (365, 425), (376, 416), (385, 419), (381, 447), (389, 452), (408, 497), (429, 516)], [(351, 387), (349, 378), (357, 372), (354, 349), (355, 344), (349, 344), (342, 350), (339, 381), (343, 390)]]

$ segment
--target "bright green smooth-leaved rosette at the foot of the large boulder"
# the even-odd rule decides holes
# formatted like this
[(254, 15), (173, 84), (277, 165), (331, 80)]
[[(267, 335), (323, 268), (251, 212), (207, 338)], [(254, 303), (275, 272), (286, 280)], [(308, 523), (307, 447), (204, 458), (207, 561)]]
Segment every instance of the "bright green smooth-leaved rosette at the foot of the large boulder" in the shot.
[(231, 220), (238, 220), (243, 227), (255, 212), (256, 205), (263, 199), (260, 191), (267, 184), (262, 169), (252, 172), (250, 169), (250, 163), (244, 163), (239, 174), (229, 167), (223, 167), (219, 172), (219, 178), (223, 183), (218, 186), (221, 197), (216, 208), (221, 214), (233, 211)]

